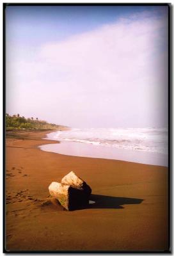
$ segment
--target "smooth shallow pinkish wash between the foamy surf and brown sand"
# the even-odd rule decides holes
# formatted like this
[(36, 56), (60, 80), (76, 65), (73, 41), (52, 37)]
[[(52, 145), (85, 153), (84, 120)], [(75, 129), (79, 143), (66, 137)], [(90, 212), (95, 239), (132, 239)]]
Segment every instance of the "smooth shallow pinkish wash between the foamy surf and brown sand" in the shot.
[(55, 132), (49, 132), (45, 140), (58, 141), (58, 143), (39, 145), (38, 148), (46, 152), (53, 152), (65, 156), (111, 159), (130, 163), (168, 167), (168, 156), (162, 153), (106, 147), (103, 145), (93, 145), (92, 143), (82, 143), (77, 141), (59, 141), (54, 138), (52, 135), (53, 133)]

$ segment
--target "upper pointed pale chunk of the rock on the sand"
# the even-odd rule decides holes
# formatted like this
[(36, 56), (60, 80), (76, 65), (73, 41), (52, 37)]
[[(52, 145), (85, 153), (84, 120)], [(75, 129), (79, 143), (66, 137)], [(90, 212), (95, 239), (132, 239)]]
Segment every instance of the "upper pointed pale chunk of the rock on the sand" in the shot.
[(77, 177), (77, 175), (74, 172), (68, 173), (63, 179), (61, 180), (61, 184), (70, 185), (77, 189), (83, 189), (86, 194), (91, 194), (91, 188), (86, 184), (86, 182)]

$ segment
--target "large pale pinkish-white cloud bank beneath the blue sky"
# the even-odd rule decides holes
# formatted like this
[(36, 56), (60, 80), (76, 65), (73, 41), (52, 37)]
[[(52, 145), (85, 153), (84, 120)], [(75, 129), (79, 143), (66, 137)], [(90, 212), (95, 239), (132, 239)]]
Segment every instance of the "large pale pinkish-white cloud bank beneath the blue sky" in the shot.
[(9, 84), (24, 95), (24, 108), (26, 95), (37, 95), (33, 111), (42, 105), (49, 118), (59, 102), (64, 113), (57, 109), (56, 115), (64, 124), (96, 122), (102, 127), (106, 120), (103, 125), (110, 127), (165, 125), (166, 24), (166, 19), (145, 13), (43, 44), (35, 60), (11, 62)]

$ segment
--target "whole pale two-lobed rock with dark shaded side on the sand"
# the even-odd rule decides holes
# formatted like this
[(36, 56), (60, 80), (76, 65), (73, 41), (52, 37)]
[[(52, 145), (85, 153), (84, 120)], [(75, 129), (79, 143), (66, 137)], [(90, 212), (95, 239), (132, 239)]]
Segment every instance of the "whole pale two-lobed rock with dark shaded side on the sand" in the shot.
[(61, 183), (52, 182), (49, 186), (49, 193), (57, 198), (65, 209), (72, 211), (88, 205), (91, 188), (74, 172), (70, 172), (63, 177)]

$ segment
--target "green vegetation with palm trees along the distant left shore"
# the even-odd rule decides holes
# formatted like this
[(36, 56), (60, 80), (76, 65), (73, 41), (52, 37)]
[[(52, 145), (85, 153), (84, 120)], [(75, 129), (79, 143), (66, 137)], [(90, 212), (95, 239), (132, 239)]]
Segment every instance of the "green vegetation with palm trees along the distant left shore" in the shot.
[(25, 118), (24, 116), (20, 116), (19, 114), (10, 116), (6, 114), (6, 130), (55, 130), (61, 129), (61, 125), (49, 124), (46, 121), (38, 120), (38, 118), (34, 119)]

